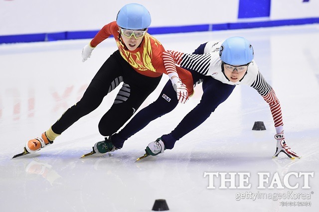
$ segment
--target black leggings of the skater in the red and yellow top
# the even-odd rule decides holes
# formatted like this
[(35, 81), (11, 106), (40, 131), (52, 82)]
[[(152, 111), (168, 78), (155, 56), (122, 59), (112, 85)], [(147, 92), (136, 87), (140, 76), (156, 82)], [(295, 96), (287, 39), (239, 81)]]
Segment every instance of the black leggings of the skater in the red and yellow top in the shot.
[(96, 73), (82, 99), (63, 113), (52, 125), (52, 130), (61, 134), (79, 118), (96, 109), (103, 98), (123, 82), (113, 105), (99, 123), (99, 131), (103, 136), (112, 135), (132, 117), (156, 89), (160, 79), (161, 76), (147, 77), (136, 72), (117, 50)]

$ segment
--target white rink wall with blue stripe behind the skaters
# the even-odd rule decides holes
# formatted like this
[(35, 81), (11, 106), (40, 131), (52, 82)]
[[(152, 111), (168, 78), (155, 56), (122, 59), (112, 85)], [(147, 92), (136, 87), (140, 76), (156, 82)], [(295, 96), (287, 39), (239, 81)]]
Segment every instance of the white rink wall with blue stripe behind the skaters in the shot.
[(149, 9), (151, 34), (319, 22), (318, 0), (0, 0), (0, 43), (92, 38), (132, 2)]

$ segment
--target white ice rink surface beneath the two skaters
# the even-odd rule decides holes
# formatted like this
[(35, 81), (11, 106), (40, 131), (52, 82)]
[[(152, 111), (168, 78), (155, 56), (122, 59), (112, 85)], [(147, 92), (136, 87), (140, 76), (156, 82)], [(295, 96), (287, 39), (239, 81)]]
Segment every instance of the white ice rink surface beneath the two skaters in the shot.
[[(80, 159), (103, 140), (97, 125), (118, 90), (53, 145), (11, 159), (81, 98), (117, 46), (109, 38), (82, 63), (82, 48), (90, 40), (0, 45), (1, 211), (151, 212), (155, 200), (165, 199), (171, 212), (318, 212), (319, 25), (155, 37), (165, 49), (190, 53), (199, 44), (230, 36), (251, 41), (255, 61), (281, 102), (287, 143), (301, 159), (284, 155), (272, 159), (276, 131), (270, 109), (248, 86), (237, 86), (202, 125), (157, 157), (135, 163), (151, 141), (169, 133), (198, 104), (200, 86), (187, 104), (151, 122), (111, 154)], [(162, 78), (142, 107), (158, 97), (167, 79)], [(263, 121), (267, 130), (252, 130), (255, 121)], [(221, 175), (213, 179), (207, 175), (216, 172), (227, 173), (226, 178), (229, 173), (249, 173), (248, 183), (236, 174), (235, 187), (240, 183), (251, 187), (231, 189), (226, 183), (222, 189)], [(258, 173), (269, 173), (265, 189), (257, 188)], [(300, 173), (314, 173), (314, 177)], [(281, 184), (284, 188), (277, 188)], [(240, 195), (243, 198), (236, 200)]]

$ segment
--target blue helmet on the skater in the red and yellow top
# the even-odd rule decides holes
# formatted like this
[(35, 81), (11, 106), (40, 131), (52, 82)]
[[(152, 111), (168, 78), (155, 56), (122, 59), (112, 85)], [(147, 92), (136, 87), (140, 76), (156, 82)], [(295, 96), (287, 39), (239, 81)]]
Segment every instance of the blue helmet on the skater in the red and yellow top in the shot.
[(143, 5), (129, 3), (120, 9), (116, 23), (125, 29), (145, 29), (151, 25), (151, 14)]

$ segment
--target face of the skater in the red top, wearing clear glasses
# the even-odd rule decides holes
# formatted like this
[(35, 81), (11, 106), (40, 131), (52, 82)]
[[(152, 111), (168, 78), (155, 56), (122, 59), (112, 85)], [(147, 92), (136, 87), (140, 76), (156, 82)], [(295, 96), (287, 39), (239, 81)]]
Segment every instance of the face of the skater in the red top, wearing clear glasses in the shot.
[(134, 51), (139, 47), (141, 44), (144, 35), (148, 31), (146, 30), (130, 30), (130, 29), (123, 29), (119, 27), (119, 30), (121, 31), (121, 36), (124, 44), (130, 51)]

